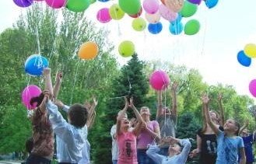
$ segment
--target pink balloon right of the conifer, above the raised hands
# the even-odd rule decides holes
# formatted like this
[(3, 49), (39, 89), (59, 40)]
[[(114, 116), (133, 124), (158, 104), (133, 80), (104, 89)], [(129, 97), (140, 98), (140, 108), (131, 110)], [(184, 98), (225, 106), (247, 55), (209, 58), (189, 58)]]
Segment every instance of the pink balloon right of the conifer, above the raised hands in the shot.
[(163, 71), (155, 71), (150, 76), (149, 83), (153, 87), (153, 89), (166, 89), (167, 86), (170, 84), (169, 75), (167, 75), (167, 73)]

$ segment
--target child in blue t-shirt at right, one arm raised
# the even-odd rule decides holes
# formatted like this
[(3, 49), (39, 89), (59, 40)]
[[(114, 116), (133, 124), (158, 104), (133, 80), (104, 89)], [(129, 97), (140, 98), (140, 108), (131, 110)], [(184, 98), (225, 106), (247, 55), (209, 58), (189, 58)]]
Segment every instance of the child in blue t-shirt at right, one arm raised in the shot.
[(216, 164), (237, 164), (238, 154), (240, 154), (241, 157), (240, 164), (245, 164), (244, 142), (242, 138), (237, 136), (240, 130), (240, 124), (232, 119), (226, 120), (223, 127), (224, 131), (220, 131), (219, 127), (213, 123), (210, 117), (208, 96), (202, 96), (202, 103), (207, 123), (217, 135), (218, 147)]

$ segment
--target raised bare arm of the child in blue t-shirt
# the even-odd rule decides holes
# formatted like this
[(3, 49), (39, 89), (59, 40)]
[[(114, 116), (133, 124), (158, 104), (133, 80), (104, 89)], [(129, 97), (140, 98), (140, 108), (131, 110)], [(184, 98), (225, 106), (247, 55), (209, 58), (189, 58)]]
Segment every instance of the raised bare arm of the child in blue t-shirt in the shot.
[(205, 116), (206, 116), (207, 123), (212, 128), (212, 131), (214, 131), (215, 134), (219, 134), (219, 127), (213, 123), (212, 118), (210, 117), (209, 97), (205, 94), (202, 96), (202, 103), (203, 103), (203, 108), (205, 110)]

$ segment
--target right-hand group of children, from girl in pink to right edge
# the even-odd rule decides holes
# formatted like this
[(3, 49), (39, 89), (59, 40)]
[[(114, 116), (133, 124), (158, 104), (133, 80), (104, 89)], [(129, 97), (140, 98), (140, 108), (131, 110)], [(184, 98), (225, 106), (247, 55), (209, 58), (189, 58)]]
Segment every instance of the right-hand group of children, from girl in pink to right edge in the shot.
[[(204, 124), (197, 133), (197, 148), (190, 152), (188, 139), (175, 138), (177, 124), (177, 83), (171, 89), (172, 110), (162, 105), (162, 92), (158, 92), (156, 121), (150, 121), (149, 108), (139, 111), (133, 100), (125, 99), (124, 109), (117, 114), (117, 124), (110, 131), (112, 136), (113, 164), (184, 164), (188, 155), (193, 158), (200, 154), (200, 164), (252, 164), (254, 161), (252, 144), (255, 135), (248, 135), (245, 127), (240, 128), (236, 120), (224, 122), (222, 96), (218, 103), (221, 113), (209, 111), (209, 97), (202, 96)], [(131, 126), (126, 111), (128, 107), (135, 113), (137, 124)], [(239, 136), (242, 134), (242, 138)]]

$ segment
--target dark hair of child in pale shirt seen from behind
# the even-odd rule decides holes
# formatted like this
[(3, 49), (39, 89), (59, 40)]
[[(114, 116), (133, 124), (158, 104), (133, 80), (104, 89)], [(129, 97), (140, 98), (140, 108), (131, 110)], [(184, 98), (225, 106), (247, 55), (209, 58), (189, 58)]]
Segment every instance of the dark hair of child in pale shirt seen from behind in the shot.
[(68, 117), (70, 119), (70, 124), (75, 127), (84, 127), (87, 122), (88, 111), (85, 106), (82, 106), (82, 104), (75, 103), (70, 106)]

